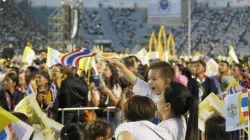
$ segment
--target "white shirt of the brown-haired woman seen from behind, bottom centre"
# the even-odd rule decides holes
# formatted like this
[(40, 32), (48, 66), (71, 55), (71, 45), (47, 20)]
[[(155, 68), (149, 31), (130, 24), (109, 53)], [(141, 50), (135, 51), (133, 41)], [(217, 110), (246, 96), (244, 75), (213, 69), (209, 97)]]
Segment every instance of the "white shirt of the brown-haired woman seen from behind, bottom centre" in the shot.
[(115, 130), (115, 138), (123, 132), (129, 132), (134, 140), (162, 140), (158, 135), (160, 135), (164, 140), (174, 140), (173, 135), (169, 130), (165, 130), (151, 123), (150, 121), (138, 121), (138, 122), (128, 122), (119, 125)]

